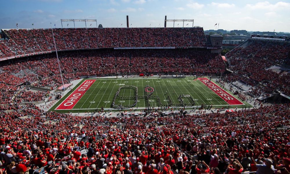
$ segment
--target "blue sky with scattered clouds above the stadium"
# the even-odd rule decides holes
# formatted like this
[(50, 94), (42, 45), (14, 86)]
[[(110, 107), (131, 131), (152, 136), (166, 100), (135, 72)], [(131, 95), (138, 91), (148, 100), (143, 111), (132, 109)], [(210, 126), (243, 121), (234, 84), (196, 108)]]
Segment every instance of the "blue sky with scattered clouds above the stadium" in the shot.
[[(60, 19), (97, 19), (104, 27), (164, 26), (167, 19), (194, 19), (194, 26), (225, 30), (290, 32), (290, 1), (201, 1), (201, 0), (8, 0), (1, 1), (0, 28), (61, 27)], [(92, 23), (92, 26), (89, 26)], [(68, 22), (63, 22), (67, 27)], [(121, 26), (121, 24), (123, 24)], [(184, 23), (186, 26), (187, 22)], [(85, 27), (76, 22), (76, 27)], [(93, 22), (88, 27), (96, 27)], [(172, 27), (173, 23), (167, 23)], [(175, 27), (182, 27), (182, 22)], [(192, 23), (189, 23), (192, 26)], [(69, 22), (68, 27), (73, 27)]]

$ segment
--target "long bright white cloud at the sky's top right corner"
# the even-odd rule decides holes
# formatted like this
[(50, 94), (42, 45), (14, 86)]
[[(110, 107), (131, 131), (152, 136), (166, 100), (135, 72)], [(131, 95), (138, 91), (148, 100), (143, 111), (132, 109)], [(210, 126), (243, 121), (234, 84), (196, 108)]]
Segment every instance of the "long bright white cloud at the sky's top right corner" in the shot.
[(247, 4), (246, 7), (252, 10), (256, 10), (256, 9), (276, 10), (276, 9), (282, 9), (282, 8), (290, 9), (290, 3), (280, 1), (280, 2), (277, 2), (276, 4), (271, 4), (268, 1), (264, 1), (264, 2), (258, 2), (255, 4)]

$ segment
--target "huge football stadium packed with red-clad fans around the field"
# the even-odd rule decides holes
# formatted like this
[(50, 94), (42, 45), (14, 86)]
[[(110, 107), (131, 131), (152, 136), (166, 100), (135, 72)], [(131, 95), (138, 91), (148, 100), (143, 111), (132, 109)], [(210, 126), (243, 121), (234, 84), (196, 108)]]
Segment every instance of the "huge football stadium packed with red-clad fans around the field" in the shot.
[(0, 173), (290, 173), (289, 35), (124, 19), (1, 29)]

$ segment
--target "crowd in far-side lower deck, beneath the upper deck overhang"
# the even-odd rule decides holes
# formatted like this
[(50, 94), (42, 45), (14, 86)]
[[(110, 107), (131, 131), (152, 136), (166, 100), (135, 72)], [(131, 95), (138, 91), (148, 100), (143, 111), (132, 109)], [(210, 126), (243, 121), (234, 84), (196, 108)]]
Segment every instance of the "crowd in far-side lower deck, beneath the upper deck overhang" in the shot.
[[(208, 52), (167, 51), (114, 51), (84, 52), (59, 55), (64, 83), (80, 76), (104, 76), (120, 73), (187, 73), (219, 75), (225, 69), (220, 54)], [(23, 86), (30, 83), (36, 87), (55, 89), (61, 85), (55, 55), (39, 55), (0, 65), (1, 103), (9, 104)], [(31, 92), (30, 92), (31, 93)], [(25, 93), (24, 93), (25, 94)], [(27, 96), (27, 95), (22, 95)], [(17, 96), (16, 96), (17, 97)], [(33, 93), (26, 100), (18, 95), (14, 102), (42, 100)]]

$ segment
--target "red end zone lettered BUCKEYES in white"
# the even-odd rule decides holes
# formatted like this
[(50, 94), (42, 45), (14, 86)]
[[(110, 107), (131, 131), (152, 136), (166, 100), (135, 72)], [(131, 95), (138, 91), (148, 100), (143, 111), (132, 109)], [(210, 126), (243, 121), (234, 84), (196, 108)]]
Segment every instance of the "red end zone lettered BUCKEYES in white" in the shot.
[(207, 78), (197, 78), (199, 79), (203, 84), (205, 84), (207, 87), (209, 87), (213, 92), (215, 92), (218, 96), (220, 96), (224, 101), (226, 101), (229, 105), (243, 105), (240, 100), (223, 90), (220, 86), (210, 82)]

